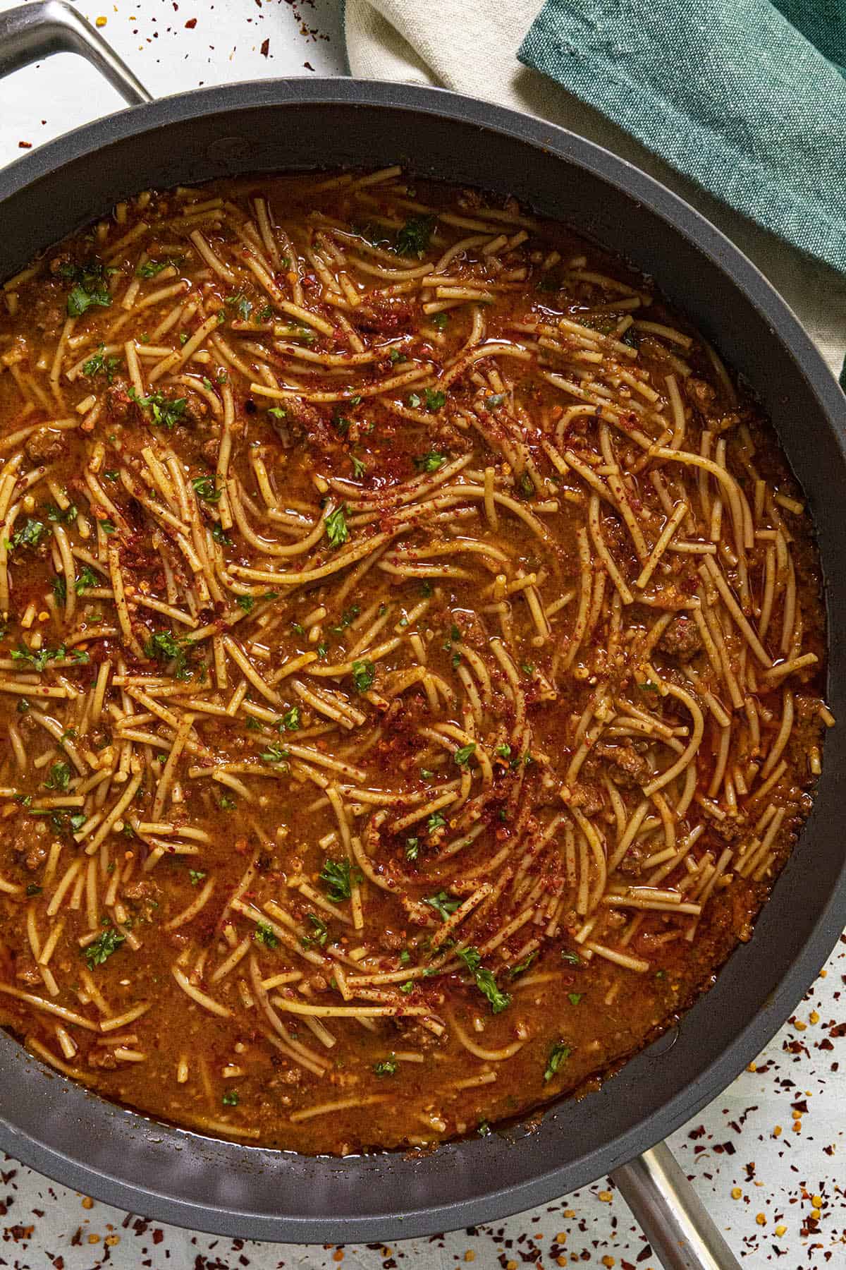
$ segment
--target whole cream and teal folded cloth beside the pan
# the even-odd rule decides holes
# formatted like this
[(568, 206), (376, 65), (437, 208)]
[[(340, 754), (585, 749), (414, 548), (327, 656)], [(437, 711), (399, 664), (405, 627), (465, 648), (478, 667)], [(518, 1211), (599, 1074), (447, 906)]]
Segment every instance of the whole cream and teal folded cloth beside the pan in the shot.
[(843, 0), (346, 0), (345, 34), (353, 75), (542, 116), (675, 188), (840, 370)]

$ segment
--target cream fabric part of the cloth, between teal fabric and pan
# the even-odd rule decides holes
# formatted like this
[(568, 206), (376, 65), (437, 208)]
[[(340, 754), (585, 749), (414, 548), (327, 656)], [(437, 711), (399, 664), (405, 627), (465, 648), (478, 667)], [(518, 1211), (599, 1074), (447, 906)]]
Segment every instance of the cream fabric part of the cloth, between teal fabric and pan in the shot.
[(685, 180), (621, 128), (517, 61), (542, 0), (346, 0), (350, 70), (405, 80), (535, 114), (613, 150), (722, 229), (797, 312), (835, 375), (846, 352), (846, 279)]

